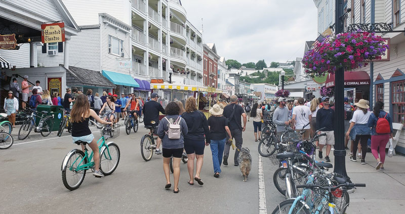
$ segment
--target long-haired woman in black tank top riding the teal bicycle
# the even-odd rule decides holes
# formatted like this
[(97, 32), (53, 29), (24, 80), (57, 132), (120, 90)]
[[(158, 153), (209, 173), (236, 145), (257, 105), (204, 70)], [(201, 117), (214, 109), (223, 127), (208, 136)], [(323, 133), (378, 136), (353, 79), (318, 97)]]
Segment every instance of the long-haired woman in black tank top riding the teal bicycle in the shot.
[[(107, 99), (109, 100), (109, 99)], [(76, 141), (85, 141), (89, 144), (90, 148), (94, 153), (94, 176), (103, 177), (103, 173), (100, 172), (100, 154), (97, 146), (97, 141), (94, 138), (92, 132), (89, 128), (89, 118), (93, 117), (98, 122), (102, 124), (110, 124), (111, 122), (106, 122), (100, 119), (96, 112), (90, 109), (89, 100), (86, 95), (80, 94), (76, 98), (76, 103), (73, 105), (72, 111), (70, 112), (70, 121), (72, 122), (72, 139), (73, 143)], [(82, 150), (85, 150), (85, 146), (82, 145)]]

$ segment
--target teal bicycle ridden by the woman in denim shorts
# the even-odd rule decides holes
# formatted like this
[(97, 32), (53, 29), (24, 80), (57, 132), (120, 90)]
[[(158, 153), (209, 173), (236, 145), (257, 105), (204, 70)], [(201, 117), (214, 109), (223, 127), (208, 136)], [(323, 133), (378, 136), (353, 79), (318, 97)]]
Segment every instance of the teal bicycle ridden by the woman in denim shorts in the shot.
[[(97, 125), (96, 125), (97, 126)], [(69, 190), (75, 190), (83, 183), (86, 171), (94, 172), (93, 151), (89, 155), (86, 148), (87, 142), (76, 141), (77, 145), (84, 145), (84, 152), (79, 149), (72, 149), (66, 154), (62, 162), (63, 185)], [(105, 175), (111, 175), (119, 163), (119, 147), (114, 142), (105, 142), (104, 136), (97, 141), (100, 151), (100, 171)]]

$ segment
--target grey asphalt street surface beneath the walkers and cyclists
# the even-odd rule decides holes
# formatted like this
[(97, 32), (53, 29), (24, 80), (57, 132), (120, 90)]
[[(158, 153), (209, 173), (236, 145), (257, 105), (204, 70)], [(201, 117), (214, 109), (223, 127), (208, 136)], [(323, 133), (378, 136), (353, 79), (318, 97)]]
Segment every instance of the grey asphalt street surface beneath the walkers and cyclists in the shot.
[[(18, 129), (18, 128), (17, 128)], [(15, 135), (18, 130), (13, 130)], [(100, 137), (100, 132), (93, 132)], [(166, 180), (161, 155), (153, 154), (145, 162), (140, 153), (141, 137), (147, 133), (141, 124), (138, 133), (127, 135), (121, 129), (114, 141), (120, 149), (116, 171), (104, 178), (87, 174), (82, 186), (67, 190), (61, 178), (61, 163), (71, 149), (68, 133), (56, 137), (56, 132), (46, 138), (31, 133), (29, 139), (15, 140), (7, 150), (0, 150), (1, 213), (265, 213), (284, 200), (273, 186), (272, 175), (276, 169), (268, 158), (262, 159), (263, 183), (258, 176), (258, 142), (254, 141), (252, 121), (244, 132), (243, 147), (250, 148), (252, 171), (247, 182), (242, 181), (238, 167), (222, 166), (220, 178), (213, 177), (210, 147), (206, 147), (201, 172), (203, 186), (189, 179), (186, 164), (180, 166), (180, 193), (173, 187), (165, 190)], [(17, 137), (15, 136), (15, 139)], [(234, 150), (231, 150), (233, 156)], [(173, 176), (171, 177), (173, 183)], [(260, 179), (262, 182), (262, 179)], [(259, 196), (259, 186), (262, 194)], [(263, 194), (264, 193), (264, 194)], [(265, 197), (265, 198), (264, 198)], [(265, 202), (265, 203), (264, 203)]]

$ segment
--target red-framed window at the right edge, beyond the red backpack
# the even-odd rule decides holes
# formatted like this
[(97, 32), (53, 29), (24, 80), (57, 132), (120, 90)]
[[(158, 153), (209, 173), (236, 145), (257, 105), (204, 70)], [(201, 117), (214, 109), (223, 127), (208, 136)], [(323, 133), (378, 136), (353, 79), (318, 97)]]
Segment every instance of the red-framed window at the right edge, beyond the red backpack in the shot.
[(405, 80), (392, 82), (392, 122), (404, 123), (405, 122)]

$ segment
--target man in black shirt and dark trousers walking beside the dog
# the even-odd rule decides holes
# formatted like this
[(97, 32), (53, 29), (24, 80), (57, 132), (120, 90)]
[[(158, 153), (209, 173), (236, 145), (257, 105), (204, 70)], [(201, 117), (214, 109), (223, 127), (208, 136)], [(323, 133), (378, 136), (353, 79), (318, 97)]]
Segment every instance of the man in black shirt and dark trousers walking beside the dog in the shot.
[[(238, 163), (238, 155), (239, 151), (242, 148), (242, 143), (243, 143), (243, 138), (242, 138), (242, 132), (246, 130), (246, 114), (244, 109), (237, 104), (237, 96), (232, 95), (230, 97), (231, 103), (228, 104), (227, 106), (224, 107), (224, 112), (223, 115), (225, 118), (229, 120), (229, 129), (231, 131), (232, 137), (235, 139), (235, 145), (236, 145), (236, 150), (235, 150), (235, 155), (233, 156), (233, 162), (234, 166), (239, 166)], [(244, 120), (244, 126), (242, 127), (240, 117), (243, 117)], [(230, 138), (229, 136), (229, 139)], [(228, 165), (228, 157), (229, 157), (229, 149), (231, 146), (231, 140), (228, 140), (227, 143), (225, 144), (225, 149), (224, 149), (224, 162), (223, 164), (225, 166)]]

